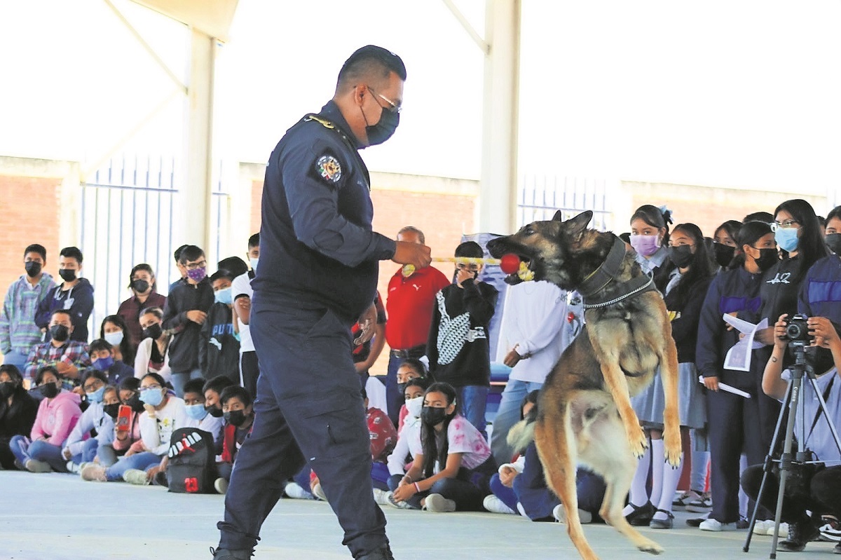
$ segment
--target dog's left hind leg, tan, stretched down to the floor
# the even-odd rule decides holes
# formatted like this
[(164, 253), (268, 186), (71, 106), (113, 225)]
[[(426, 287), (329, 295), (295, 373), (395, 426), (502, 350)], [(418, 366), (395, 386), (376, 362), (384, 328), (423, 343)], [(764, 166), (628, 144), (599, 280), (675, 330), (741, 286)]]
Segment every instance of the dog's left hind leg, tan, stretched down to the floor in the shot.
[(537, 420), (534, 430), (537, 455), (543, 465), (547, 485), (563, 505), (567, 517), (569, 539), (584, 560), (598, 560), (599, 557), (596, 556), (584, 536), (584, 529), (581, 527), (578, 515), (578, 490), (575, 478), (578, 465), (575, 457), (575, 437), (570, 425), (570, 407), (569, 404), (563, 404), (560, 408), (560, 422), (557, 425), (550, 425), (545, 417)]

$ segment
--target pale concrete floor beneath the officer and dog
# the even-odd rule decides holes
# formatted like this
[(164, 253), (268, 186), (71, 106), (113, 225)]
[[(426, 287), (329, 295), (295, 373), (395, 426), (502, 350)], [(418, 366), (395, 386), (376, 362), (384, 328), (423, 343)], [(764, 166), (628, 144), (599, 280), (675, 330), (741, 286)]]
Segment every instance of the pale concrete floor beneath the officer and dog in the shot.
[[(69, 474), (0, 471), (2, 560), (209, 560), (216, 546), (219, 495), (169, 494), (158, 487), (87, 483)], [(431, 514), (383, 506), (398, 560), (544, 560), (577, 558), (565, 526), (531, 523), (515, 515)], [(767, 558), (770, 537), (754, 538), (742, 552), (745, 531), (705, 533), (685, 526), (693, 514), (677, 513), (676, 528), (642, 531), (666, 549), (664, 557), (692, 560)], [(611, 527), (585, 526), (601, 558), (646, 558)], [(813, 542), (780, 558), (839, 558), (833, 545)], [(281, 500), (266, 521), (255, 558), (347, 560), (341, 529), (328, 505)]]

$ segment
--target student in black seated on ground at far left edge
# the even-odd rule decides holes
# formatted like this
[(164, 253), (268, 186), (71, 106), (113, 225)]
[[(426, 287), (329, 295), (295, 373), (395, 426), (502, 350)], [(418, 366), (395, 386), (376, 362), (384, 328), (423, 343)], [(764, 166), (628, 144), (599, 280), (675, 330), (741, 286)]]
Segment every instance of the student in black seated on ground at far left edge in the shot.
[(8, 364), (0, 366), (0, 468), (16, 468), (9, 441), (13, 436), (29, 436), (37, 414), (38, 402), (24, 388), (20, 370)]

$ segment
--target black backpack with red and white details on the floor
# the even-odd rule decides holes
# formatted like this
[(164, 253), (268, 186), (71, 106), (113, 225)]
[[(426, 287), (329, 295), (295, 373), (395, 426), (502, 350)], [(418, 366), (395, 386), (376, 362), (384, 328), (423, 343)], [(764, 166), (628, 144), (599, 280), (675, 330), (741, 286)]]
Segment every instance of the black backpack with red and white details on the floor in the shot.
[(172, 432), (169, 443), (169, 491), (214, 494), (216, 461), (213, 436), (198, 428), (178, 428)]

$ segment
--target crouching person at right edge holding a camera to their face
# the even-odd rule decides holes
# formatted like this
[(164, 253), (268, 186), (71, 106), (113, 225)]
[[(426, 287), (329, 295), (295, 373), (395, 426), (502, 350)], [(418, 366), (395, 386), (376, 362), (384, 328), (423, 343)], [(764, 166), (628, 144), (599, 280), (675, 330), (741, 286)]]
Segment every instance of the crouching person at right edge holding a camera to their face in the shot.
[[(805, 320), (807, 335), (801, 335)], [(805, 333), (804, 333), (805, 334)], [(783, 399), (788, 388), (788, 370), (783, 370), (786, 347), (792, 339), (811, 339), (811, 346), (826, 348), (832, 352), (834, 367), (817, 378), (818, 390), (827, 404), (828, 418), (821, 418), (822, 411), (815, 390), (807, 379), (802, 383), (800, 399), (803, 414), (796, 414), (795, 434), (805, 435), (802, 441), (812, 455), (815, 464), (795, 464), (785, 484), (780, 520), (789, 524), (789, 534), (785, 541), (779, 542), (777, 550), (800, 552), (807, 542), (819, 535), (817, 526), (807, 514), (807, 510), (817, 515), (841, 515), (841, 450), (838, 449), (830, 431), (829, 420), (841, 428), (841, 379), (838, 379), (838, 366), (841, 365), (841, 337), (831, 320), (826, 317), (802, 318), (796, 316), (788, 320), (787, 314), (780, 315), (774, 325), (774, 350), (765, 365), (762, 377), (762, 389), (773, 399)], [(830, 466), (831, 465), (831, 466)], [(754, 465), (745, 469), (742, 475), (742, 488), (753, 499), (757, 499), (762, 482), (763, 466)], [(761, 503), (769, 510), (775, 510), (777, 493), (780, 487), (779, 469), (769, 473)], [(833, 552), (841, 554), (841, 543)]]

